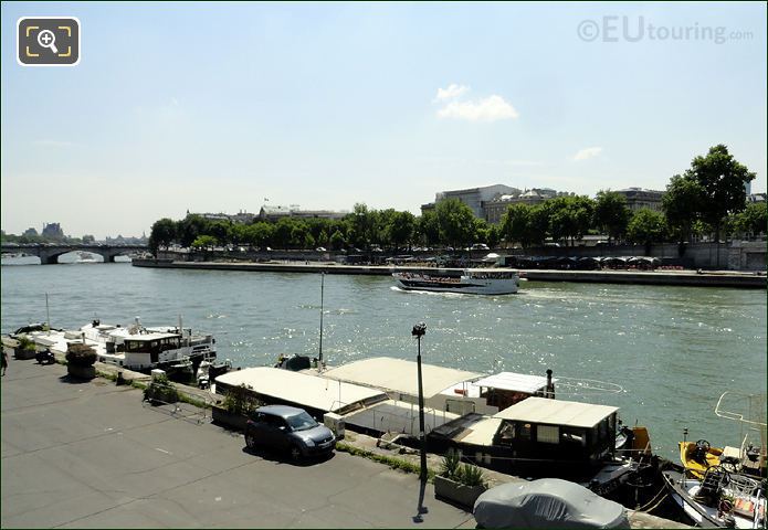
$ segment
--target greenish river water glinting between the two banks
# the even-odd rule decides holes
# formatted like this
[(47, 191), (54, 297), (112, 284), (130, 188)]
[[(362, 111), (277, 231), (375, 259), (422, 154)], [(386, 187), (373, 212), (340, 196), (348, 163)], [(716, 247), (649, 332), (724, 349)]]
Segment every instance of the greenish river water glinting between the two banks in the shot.
[[(181, 315), (185, 326), (212, 332), (219, 358), (234, 365), (318, 352), (319, 275), (127, 263), (3, 266), (1, 275), (3, 333), (44, 321), (48, 294), (54, 327), (94, 317), (127, 325), (135, 316), (146, 326), (172, 325)], [(556, 378), (620, 385), (558, 398), (619, 406), (671, 458), (684, 427), (688, 439), (738, 446), (744, 430), (714, 414), (717, 399), (728, 390), (766, 392), (764, 290), (523, 282), (517, 295), (486, 297), (406, 293), (381, 276), (325, 276), (328, 364), (414, 360), (419, 321), (427, 324), (424, 362), (483, 373), (550, 368)]]

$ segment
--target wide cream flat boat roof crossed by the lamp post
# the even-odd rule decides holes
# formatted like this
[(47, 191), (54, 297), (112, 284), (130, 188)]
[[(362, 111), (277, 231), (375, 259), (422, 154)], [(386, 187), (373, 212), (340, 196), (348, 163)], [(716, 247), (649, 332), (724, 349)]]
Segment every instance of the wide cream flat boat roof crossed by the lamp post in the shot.
[[(419, 395), (417, 363), (391, 357), (374, 357), (349, 362), (323, 372), (323, 377), (338, 381), (365, 384), (389, 392)], [(475, 380), (481, 373), (453, 368), (421, 364), (424, 398), (432, 398), (457, 383)]]

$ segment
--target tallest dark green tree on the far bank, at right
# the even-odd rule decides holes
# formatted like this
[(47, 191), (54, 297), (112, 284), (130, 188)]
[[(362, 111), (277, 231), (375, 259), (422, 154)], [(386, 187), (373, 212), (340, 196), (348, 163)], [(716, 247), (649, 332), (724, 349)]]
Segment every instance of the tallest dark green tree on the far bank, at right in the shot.
[(705, 157), (696, 157), (686, 171), (704, 190), (702, 220), (715, 229), (719, 241), (720, 226), (729, 213), (746, 206), (746, 184), (755, 179), (746, 166), (736, 161), (724, 145), (709, 148)]

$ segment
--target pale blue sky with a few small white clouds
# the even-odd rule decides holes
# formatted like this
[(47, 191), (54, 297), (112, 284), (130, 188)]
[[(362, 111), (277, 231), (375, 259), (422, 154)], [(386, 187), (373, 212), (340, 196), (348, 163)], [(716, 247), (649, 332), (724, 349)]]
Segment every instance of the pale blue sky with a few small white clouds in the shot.
[[(663, 190), (717, 144), (766, 191), (766, 4), (1, 4), (1, 224), (147, 234), (263, 204)], [(77, 17), (71, 67), (21, 17)], [(265, 202), (266, 201), (266, 202)]]

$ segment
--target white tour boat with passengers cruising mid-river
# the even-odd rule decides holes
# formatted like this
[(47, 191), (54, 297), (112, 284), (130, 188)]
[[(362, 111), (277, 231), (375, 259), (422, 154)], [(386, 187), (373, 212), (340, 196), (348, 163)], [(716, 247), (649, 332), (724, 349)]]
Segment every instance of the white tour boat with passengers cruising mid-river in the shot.
[(466, 268), (460, 277), (445, 274), (392, 273), (398, 286), (406, 290), (467, 293), (472, 295), (508, 295), (517, 293), (519, 274), (511, 269)]

